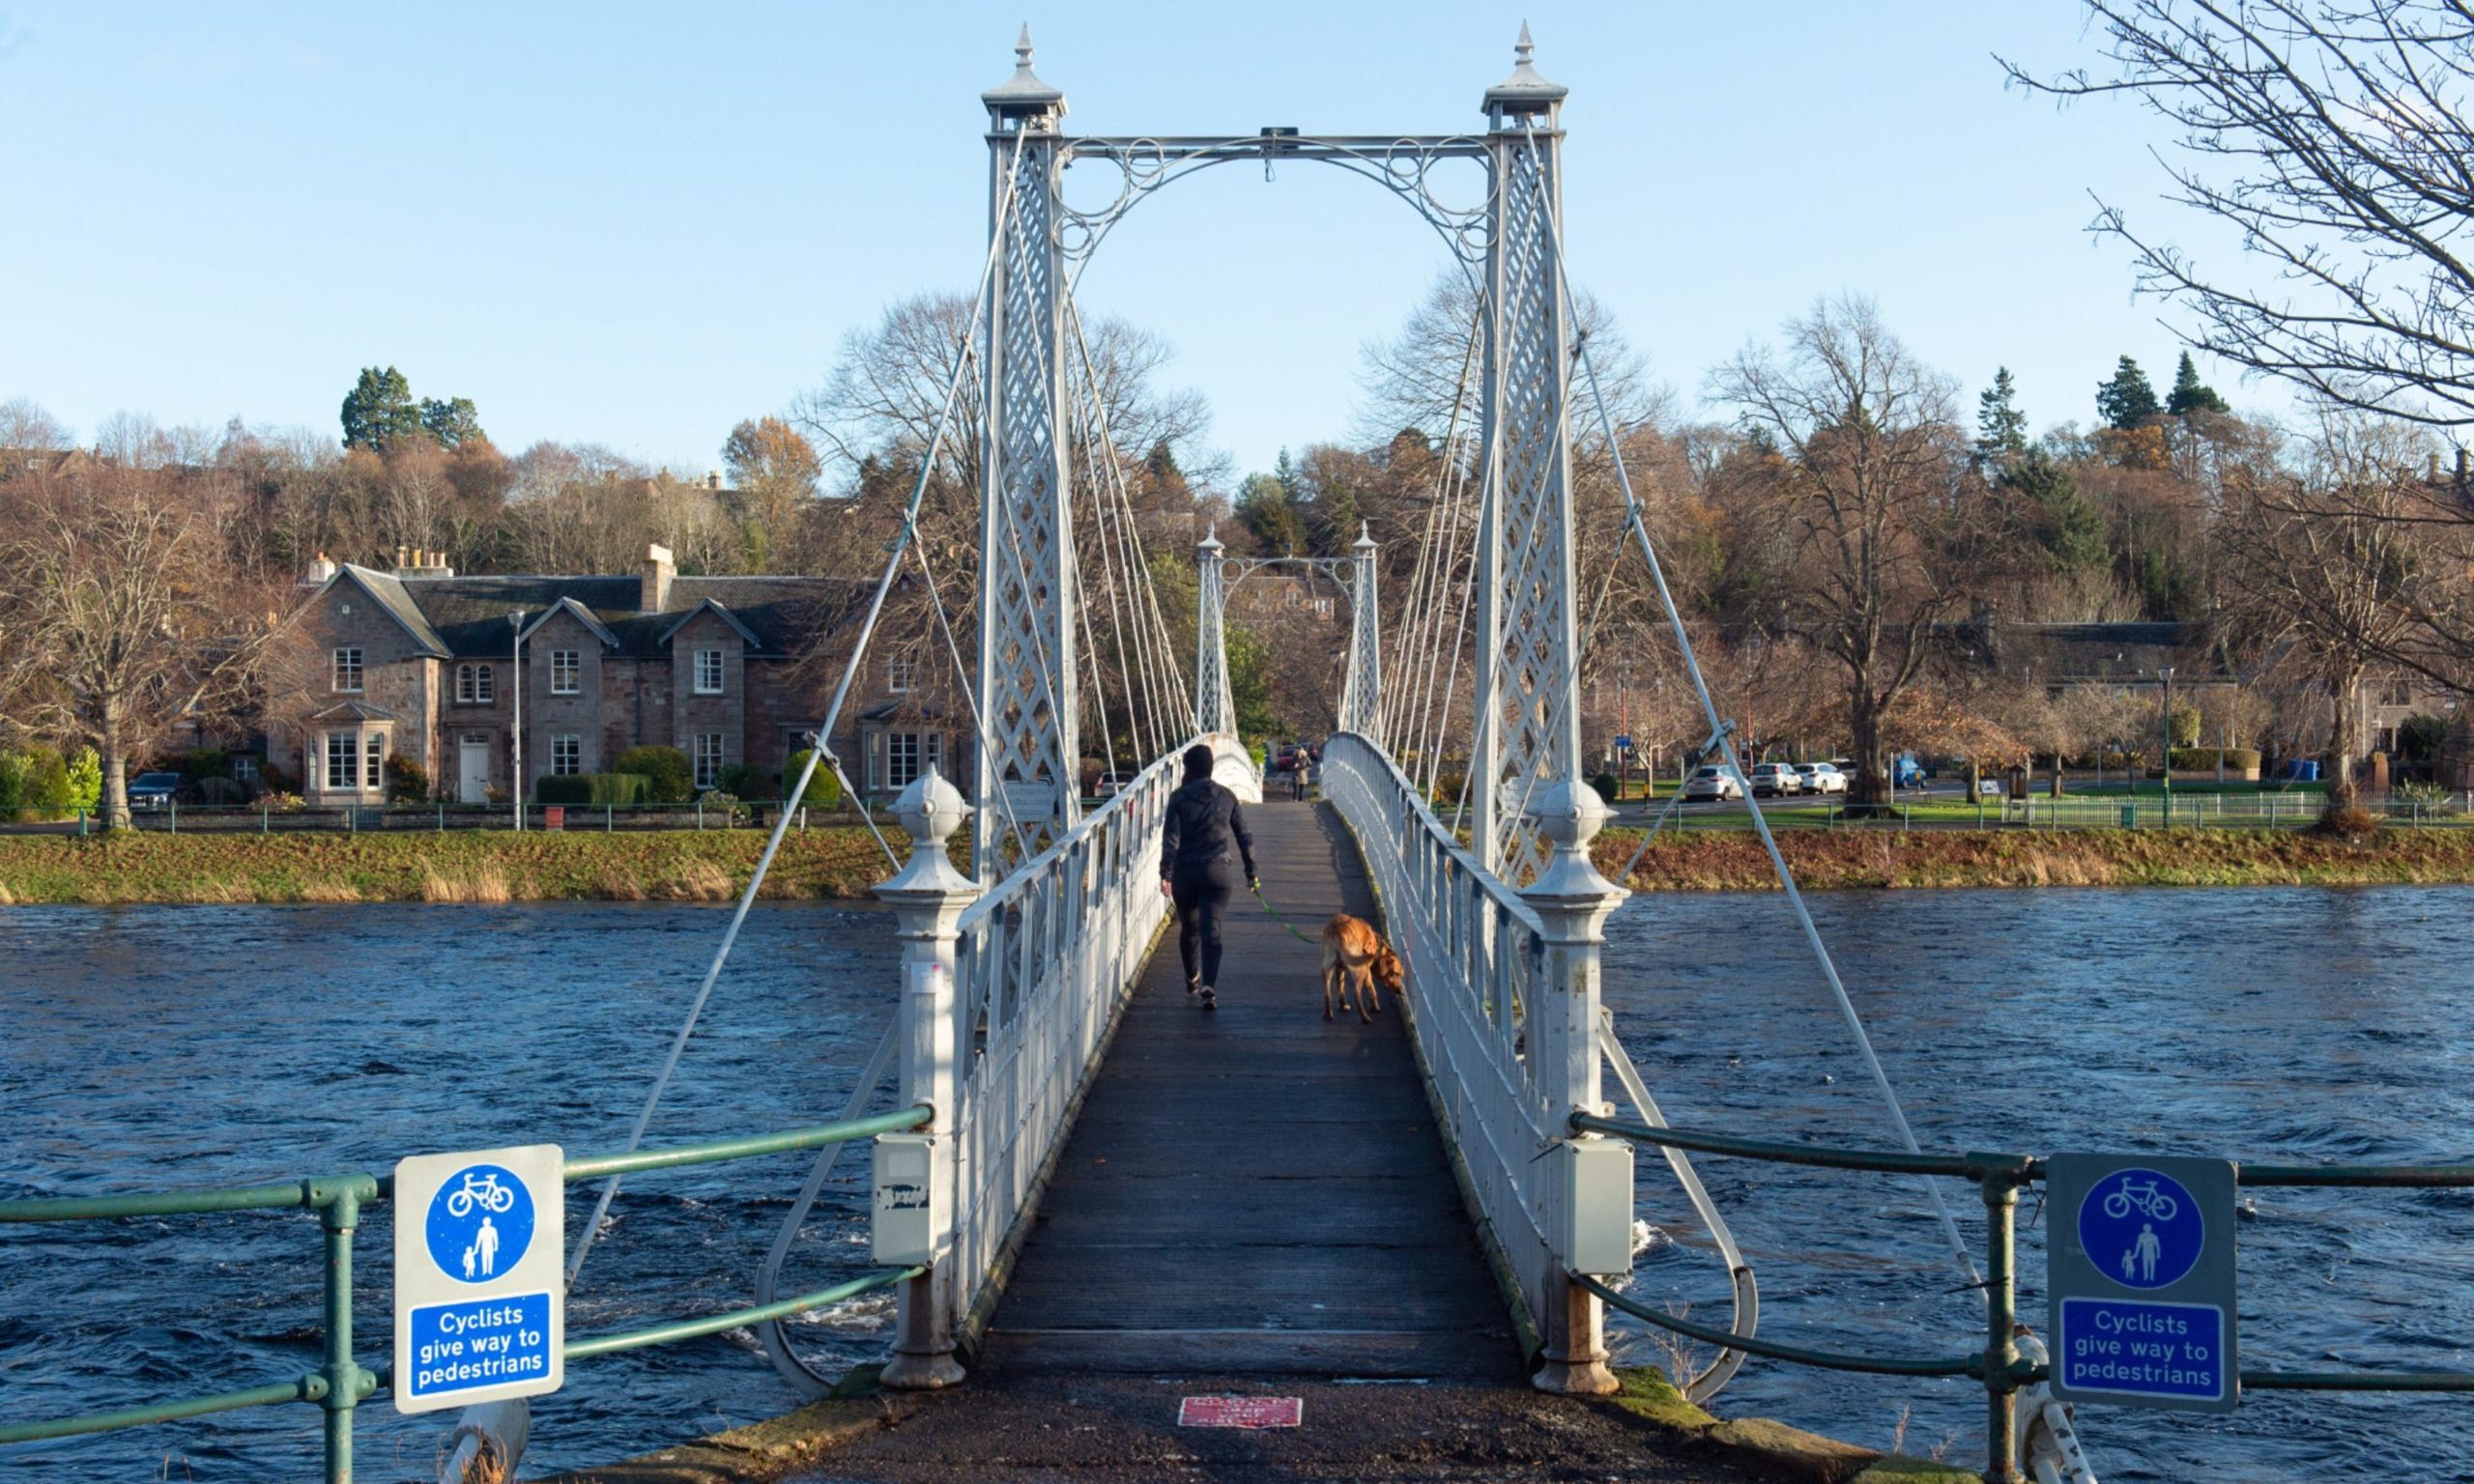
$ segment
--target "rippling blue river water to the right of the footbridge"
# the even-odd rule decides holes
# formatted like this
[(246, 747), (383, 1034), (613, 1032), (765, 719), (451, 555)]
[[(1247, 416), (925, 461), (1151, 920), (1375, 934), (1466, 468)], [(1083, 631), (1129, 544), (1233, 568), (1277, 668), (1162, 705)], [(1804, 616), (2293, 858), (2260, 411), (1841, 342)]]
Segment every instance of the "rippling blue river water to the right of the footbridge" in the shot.
[[(1930, 1150), (2145, 1150), (2462, 1162), (2474, 1123), (2474, 890), (1831, 893), (1813, 915)], [(1611, 925), (1606, 999), (1677, 1128), (1890, 1145), (1786, 903), (1645, 898)], [(1761, 1333), (1816, 1348), (1982, 1348), (1922, 1187), (1697, 1160), (1761, 1284)], [(1727, 1313), (1665, 1165), (1633, 1294)], [(1982, 1202), (1942, 1200), (1982, 1252)], [(2249, 1368), (2474, 1370), (2474, 1192), (2261, 1190), (2241, 1222)], [(2046, 1222), (2019, 1212), (2044, 1331)], [(1633, 1360), (1665, 1360), (1628, 1328)], [(1984, 1392), (1752, 1360), (1719, 1410), (1984, 1462)], [(1905, 1425), (1903, 1425), (1905, 1417)], [(2261, 1392), (2229, 1417), (2081, 1407), (2103, 1479), (2474, 1479), (2474, 1402)]]

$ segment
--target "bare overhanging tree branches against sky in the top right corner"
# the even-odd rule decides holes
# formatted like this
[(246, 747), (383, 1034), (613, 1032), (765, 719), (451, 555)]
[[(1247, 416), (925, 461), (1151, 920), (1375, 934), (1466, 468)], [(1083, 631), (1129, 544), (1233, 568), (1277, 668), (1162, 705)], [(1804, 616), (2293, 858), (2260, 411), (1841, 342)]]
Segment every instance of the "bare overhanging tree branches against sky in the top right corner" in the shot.
[(2202, 267), (2100, 203), (2185, 339), (2316, 398), (2474, 420), (2474, 7), (2462, 0), (2088, 0), (2113, 64), (2009, 79), (2130, 94), (2175, 134), (2170, 200), (2241, 232), (2264, 275)]

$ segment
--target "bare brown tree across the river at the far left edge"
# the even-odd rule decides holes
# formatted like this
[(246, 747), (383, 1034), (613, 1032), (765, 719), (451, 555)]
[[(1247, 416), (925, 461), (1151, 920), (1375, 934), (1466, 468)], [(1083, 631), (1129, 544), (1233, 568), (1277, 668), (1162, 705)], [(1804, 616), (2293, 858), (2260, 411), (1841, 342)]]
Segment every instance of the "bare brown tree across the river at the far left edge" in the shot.
[(131, 757), (238, 702), (272, 603), (225, 559), (198, 480), (92, 465), (0, 487), (0, 697), (96, 747), (104, 829), (129, 824)]

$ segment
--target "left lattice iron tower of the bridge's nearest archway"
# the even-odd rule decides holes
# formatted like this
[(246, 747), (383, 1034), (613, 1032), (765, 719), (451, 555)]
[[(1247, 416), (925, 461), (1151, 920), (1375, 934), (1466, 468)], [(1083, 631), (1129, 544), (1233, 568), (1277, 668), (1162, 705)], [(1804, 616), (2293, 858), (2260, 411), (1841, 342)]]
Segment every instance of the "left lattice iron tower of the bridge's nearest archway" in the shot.
[(1064, 94), (1017, 47), (985, 94), (995, 279), (980, 326), (980, 777), (975, 866), (999, 876), (1074, 826), (1081, 744), (1074, 690), (1074, 517), (1066, 482), (1064, 262), (1056, 252), (1056, 121)]

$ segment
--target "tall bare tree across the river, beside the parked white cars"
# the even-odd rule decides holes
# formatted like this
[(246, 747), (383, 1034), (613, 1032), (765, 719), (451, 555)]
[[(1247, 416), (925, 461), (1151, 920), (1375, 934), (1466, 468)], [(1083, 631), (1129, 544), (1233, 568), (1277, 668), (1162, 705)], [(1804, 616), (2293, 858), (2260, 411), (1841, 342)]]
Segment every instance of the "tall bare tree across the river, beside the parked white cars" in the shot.
[(1776, 623), (1838, 663), (1851, 804), (1885, 804), (1883, 720), (1997, 544), (1952, 383), (1915, 361), (1870, 302), (1838, 299), (1791, 322), (1779, 351), (1747, 349), (1719, 369), (1712, 393), (1737, 406), (1749, 435), (1719, 480), (1766, 534), (1752, 561)]

